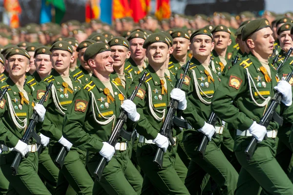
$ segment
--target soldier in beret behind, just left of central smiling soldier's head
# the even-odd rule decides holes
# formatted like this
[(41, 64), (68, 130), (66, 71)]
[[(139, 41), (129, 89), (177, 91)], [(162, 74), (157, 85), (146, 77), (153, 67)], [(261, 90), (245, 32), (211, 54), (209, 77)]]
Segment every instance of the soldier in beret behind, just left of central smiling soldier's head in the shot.
[(129, 50), (131, 54), (130, 58), (125, 63), (125, 71), (132, 79), (134, 79), (136, 75), (146, 68), (146, 63), (144, 61), (146, 57), (146, 49), (143, 48), (146, 35), (141, 31), (135, 31), (127, 37), (127, 40), (130, 44)]

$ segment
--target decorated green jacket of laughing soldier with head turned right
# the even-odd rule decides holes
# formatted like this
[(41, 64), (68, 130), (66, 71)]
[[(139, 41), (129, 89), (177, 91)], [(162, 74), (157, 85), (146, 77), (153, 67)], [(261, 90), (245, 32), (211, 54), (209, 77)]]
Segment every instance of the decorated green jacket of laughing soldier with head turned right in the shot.
[[(114, 94), (110, 97), (104, 92), (104, 84), (93, 74), (83, 89), (76, 93), (64, 116), (64, 137), (79, 149), (97, 157), (100, 157), (97, 152), (100, 152), (103, 142), (108, 140), (116, 125), (121, 104), (126, 99), (124, 87), (116, 85), (117, 82), (111, 84)], [(128, 127), (131, 129), (132, 125)], [(118, 139), (118, 142), (125, 141), (122, 137)]]

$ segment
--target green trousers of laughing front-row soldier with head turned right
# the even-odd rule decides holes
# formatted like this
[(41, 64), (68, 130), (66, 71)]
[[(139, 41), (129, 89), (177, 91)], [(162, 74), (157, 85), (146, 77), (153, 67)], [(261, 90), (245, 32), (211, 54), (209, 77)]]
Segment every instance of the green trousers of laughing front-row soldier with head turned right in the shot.
[[(94, 173), (100, 159), (100, 154), (88, 155), (86, 166), (90, 173)], [(140, 195), (142, 183), (142, 176), (129, 159), (128, 149), (116, 151), (107, 162), (101, 180), (95, 180), (93, 195), (100, 195), (101, 187), (109, 195)]]

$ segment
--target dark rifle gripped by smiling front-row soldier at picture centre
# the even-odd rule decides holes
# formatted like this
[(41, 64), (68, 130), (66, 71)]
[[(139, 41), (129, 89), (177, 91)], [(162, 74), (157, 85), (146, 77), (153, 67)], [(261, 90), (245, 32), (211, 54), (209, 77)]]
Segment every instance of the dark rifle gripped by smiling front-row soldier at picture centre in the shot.
[[(183, 84), (184, 79), (185, 79), (185, 76), (186, 76), (186, 73), (188, 71), (189, 65), (190, 65), (190, 61), (187, 62), (186, 66), (185, 66), (183, 77), (180, 78), (180, 80), (177, 82), (175, 88), (180, 88), (181, 89), (182, 84)], [(172, 146), (175, 145), (175, 141), (174, 141), (174, 139), (172, 137), (172, 131), (173, 131), (173, 125), (174, 125), (173, 124), (173, 118), (174, 118), (175, 112), (176, 112), (176, 110), (178, 108), (178, 104), (179, 103), (178, 103), (177, 100), (174, 100), (174, 99), (170, 100), (168, 108), (167, 108), (167, 110), (168, 110), (167, 115), (165, 117), (165, 120), (164, 120), (163, 125), (162, 125), (161, 130), (160, 130), (160, 134), (166, 136)], [(164, 150), (162, 148), (158, 148), (158, 150), (157, 150), (157, 152), (155, 154), (153, 162), (159, 168), (163, 167), (163, 157), (164, 157)]]

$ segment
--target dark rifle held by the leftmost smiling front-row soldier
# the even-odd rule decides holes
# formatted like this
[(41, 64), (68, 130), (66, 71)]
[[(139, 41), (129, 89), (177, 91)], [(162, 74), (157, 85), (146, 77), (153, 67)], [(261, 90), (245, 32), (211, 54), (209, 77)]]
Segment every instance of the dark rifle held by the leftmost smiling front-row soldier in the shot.
[[(53, 85), (53, 83), (49, 83), (49, 85), (47, 86), (47, 90), (46, 90), (45, 94), (42, 96), (39, 104), (41, 104), (41, 105), (43, 104), (52, 85)], [(29, 140), (33, 137), (35, 140), (37, 140), (37, 143), (40, 144), (41, 137), (35, 131), (35, 127), (36, 127), (36, 124), (38, 123), (38, 120), (39, 120), (39, 115), (37, 114), (36, 110), (34, 110), (32, 116), (30, 117), (27, 129), (25, 130), (25, 132), (21, 138), (22, 142), (28, 144)], [(42, 147), (42, 146), (40, 145), (39, 147)], [(27, 156), (28, 156), (28, 153), (26, 154), (26, 157)], [(21, 153), (17, 152), (17, 154), (11, 164), (11, 170), (12, 170), (13, 175), (16, 175), (18, 173), (18, 167), (21, 163), (21, 159), (22, 159)]]

